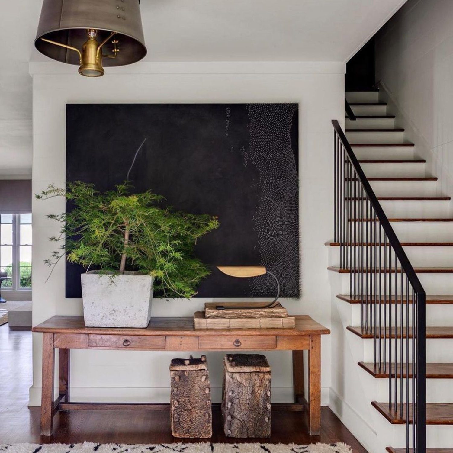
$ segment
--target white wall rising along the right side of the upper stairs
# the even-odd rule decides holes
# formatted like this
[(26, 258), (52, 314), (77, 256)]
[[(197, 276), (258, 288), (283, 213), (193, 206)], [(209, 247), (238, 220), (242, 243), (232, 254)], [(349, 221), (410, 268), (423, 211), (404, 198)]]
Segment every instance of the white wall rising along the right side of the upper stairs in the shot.
[(409, 0), (376, 35), (376, 81), (399, 125), (453, 193), (453, 2)]

